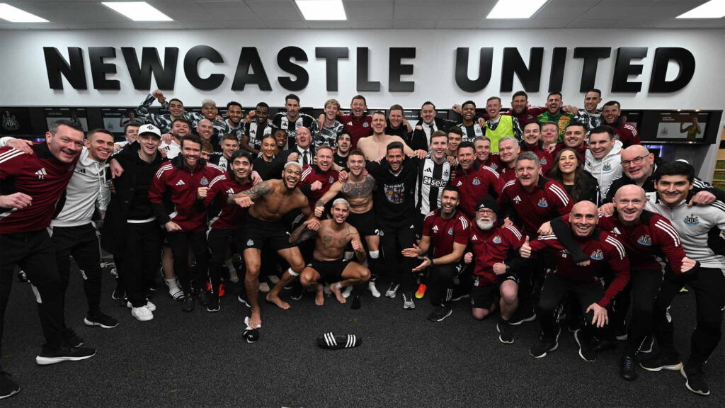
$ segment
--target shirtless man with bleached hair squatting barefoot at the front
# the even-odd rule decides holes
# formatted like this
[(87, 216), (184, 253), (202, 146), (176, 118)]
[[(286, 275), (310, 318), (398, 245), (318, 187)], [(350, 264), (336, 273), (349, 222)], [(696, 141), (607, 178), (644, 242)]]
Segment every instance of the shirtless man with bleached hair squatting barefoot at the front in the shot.
[[(315, 303), (322, 306), (325, 302), (323, 285), (318, 281), (323, 280), (330, 284), (330, 290), (335, 294), (337, 301), (345, 303), (346, 300), (340, 289), (356, 283), (365, 282), (370, 279), (370, 271), (365, 268), (365, 248), (360, 243), (360, 234), (352, 225), (347, 224), (347, 214), (350, 205), (344, 198), (338, 198), (332, 203), (332, 219), (320, 221), (315, 225), (317, 219), (305, 221), (294, 230), (289, 242), (299, 244), (311, 237), (315, 238), (315, 252), (310, 264), (305, 266), (302, 274), (299, 275), (299, 282), (303, 286), (317, 285)], [(318, 230), (310, 229), (318, 227)], [(357, 260), (348, 261), (344, 258), (344, 251), (347, 245), (352, 245)]]

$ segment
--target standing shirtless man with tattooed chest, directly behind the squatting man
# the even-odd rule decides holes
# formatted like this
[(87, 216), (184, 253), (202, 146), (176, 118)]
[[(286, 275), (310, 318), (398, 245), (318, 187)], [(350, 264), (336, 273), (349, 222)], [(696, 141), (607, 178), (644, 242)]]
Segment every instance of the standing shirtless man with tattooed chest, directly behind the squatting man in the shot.
[[(374, 118), (373, 121), (375, 121)], [(365, 156), (361, 150), (352, 150), (350, 152), (347, 156), (347, 168), (350, 170), (348, 179), (346, 181), (336, 181), (315, 203), (315, 216), (323, 216), (326, 203), (338, 194), (347, 200), (349, 203), (347, 221), (363, 234), (365, 243), (368, 246), (370, 269), (373, 272), (373, 278), (368, 282), (368, 290), (373, 294), (373, 297), (379, 298), (380, 292), (375, 286), (376, 272), (378, 272), (380, 260), (380, 236), (378, 235), (375, 211), (373, 211), (375, 179), (369, 174), (363, 174), (365, 171)]]

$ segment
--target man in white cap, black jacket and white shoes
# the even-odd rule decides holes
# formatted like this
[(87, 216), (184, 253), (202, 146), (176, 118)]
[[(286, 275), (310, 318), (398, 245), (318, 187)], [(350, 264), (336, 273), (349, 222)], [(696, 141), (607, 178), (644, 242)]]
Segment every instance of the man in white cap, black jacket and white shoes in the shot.
[(138, 142), (128, 144), (115, 155), (123, 167), (113, 180), (101, 247), (113, 254), (120, 282), (128, 293), (127, 306), (140, 321), (154, 318), (154, 303), (144, 296), (144, 280), (153, 277), (161, 254), (160, 229), (149, 201), (149, 187), (162, 162), (158, 152), (161, 132), (153, 125), (139, 128)]

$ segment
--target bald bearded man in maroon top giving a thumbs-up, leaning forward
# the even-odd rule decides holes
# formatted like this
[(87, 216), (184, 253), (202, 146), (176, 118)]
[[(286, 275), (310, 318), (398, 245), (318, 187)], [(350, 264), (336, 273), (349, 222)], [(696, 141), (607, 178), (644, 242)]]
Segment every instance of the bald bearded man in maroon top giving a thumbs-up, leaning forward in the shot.
[[(531, 347), (531, 356), (541, 358), (558, 347), (556, 310), (564, 295), (576, 295), (581, 314), (584, 315), (584, 329), (576, 330), (574, 338), (579, 344), (579, 356), (587, 362), (597, 360), (592, 348), (592, 338), (604, 338), (604, 327), (608, 325), (607, 307), (613, 298), (629, 282), (629, 259), (624, 245), (608, 232), (597, 229), (597, 205), (580, 201), (571, 208), (569, 215), (571, 233), (579, 249), (589, 256), (587, 263), (575, 264), (571, 256), (563, 251), (564, 246), (555, 235), (542, 235), (521, 247), (521, 256), (529, 258), (532, 252), (552, 248), (556, 256), (556, 272), (547, 274), (539, 300), (539, 322), (542, 334), (539, 342)], [(602, 277), (609, 265), (614, 279), (603, 287)]]

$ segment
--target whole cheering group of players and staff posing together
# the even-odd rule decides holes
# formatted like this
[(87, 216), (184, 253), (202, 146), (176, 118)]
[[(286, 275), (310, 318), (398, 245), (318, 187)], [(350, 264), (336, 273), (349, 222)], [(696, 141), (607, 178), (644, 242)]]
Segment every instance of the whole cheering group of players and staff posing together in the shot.
[[(151, 113), (154, 101), (167, 113)], [(285, 298), (305, 292), (320, 306), (345, 303), (357, 285), (407, 310), (427, 297), (434, 322), (468, 299), (502, 343), (538, 320), (535, 358), (570, 330), (587, 362), (622, 342), (625, 380), (638, 367), (679, 370), (689, 391), (708, 395), (703, 370), (725, 303), (725, 194), (688, 163), (655, 157), (618, 102), (600, 110), (601, 91), (583, 103), (553, 92), (534, 107), (518, 91), (505, 111), (500, 97), (482, 115), (476, 102), (455, 105), (460, 122), (425, 102), (410, 123), (400, 105), (368, 114), (361, 95), (348, 114), (329, 99), (313, 118), (290, 94), (270, 118), (265, 102), (247, 113), (229, 102), (223, 117), (211, 99), (194, 113), (154, 91), (122, 142), (70, 121), (50, 126), (45, 142), (4, 137), (0, 340), (20, 269), (45, 337), (36, 362), (94, 356), (66, 325), (65, 291), (72, 258), (84, 323), (118, 325), (99, 306), (103, 248), (117, 275), (111, 296), (139, 322), (154, 318), (159, 270), (184, 312), (218, 312), (224, 285), (240, 285), (249, 342), (262, 327), (260, 293), (289, 309)], [(696, 298), (687, 358), (668, 314), (680, 290)], [(0, 369), (0, 398), (19, 390)]]

